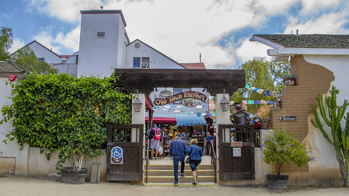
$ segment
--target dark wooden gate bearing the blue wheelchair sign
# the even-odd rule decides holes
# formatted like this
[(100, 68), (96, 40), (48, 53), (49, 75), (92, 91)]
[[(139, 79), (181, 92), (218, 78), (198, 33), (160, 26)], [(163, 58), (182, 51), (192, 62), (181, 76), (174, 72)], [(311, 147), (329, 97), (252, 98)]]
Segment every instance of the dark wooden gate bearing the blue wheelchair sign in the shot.
[[(106, 180), (143, 180), (143, 126), (108, 125)], [(121, 149), (119, 152), (122, 152), (122, 158), (112, 158), (111, 151), (115, 146), (120, 147), (118, 149)], [(115, 164), (115, 160), (119, 161), (118, 164)]]

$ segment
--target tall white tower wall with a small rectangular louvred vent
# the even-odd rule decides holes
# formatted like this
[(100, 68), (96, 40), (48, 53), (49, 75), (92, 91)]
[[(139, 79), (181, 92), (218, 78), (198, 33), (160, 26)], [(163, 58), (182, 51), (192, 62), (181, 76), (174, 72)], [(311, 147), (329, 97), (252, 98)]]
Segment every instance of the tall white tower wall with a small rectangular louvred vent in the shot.
[[(125, 30), (120, 14), (82, 14), (77, 77), (110, 76), (122, 53), (120, 29)], [(105, 38), (96, 38), (96, 31), (106, 31)]]

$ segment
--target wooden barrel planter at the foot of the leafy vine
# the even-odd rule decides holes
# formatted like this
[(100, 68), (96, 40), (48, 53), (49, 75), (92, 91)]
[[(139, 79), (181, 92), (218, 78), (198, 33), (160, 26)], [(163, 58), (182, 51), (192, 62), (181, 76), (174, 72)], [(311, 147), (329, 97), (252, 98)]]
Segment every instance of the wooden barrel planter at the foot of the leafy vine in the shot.
[(62, 181), (71, 184), (83, 184), (86, 179), (87, 169), (73, 170), (73, 167), (61, 168)]

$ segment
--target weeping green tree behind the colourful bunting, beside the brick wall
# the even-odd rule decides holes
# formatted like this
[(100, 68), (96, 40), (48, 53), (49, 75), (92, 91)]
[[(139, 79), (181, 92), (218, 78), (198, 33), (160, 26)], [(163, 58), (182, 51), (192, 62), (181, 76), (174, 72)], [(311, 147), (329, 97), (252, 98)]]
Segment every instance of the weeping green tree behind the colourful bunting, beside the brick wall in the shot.
[[(245, 70), (246, 84), (260, 89), (275, 91), (281, 93), (284, 86), (282, 77), (290, 73), (290, 63), (276, 62), (274, 60), (267, 61), (266, 58), (254, 57), (252, 60), (246, 61), (239, 69)], [(238, 89), (230, 97), (234, 102), (241, 102), (242, 100), (265, 100), (274, 101), (275, 97), (266, 96), (265, 91), (258, 93), (256, 91)], [(257, 112), (258, 105), (248, 105), (250, 113)]]

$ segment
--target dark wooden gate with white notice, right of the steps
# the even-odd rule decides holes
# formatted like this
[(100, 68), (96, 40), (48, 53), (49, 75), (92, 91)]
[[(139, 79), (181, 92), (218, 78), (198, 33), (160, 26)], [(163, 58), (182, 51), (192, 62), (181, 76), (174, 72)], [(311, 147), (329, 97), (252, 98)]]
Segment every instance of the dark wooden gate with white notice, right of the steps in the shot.
[[(254, 180), (254, 131), (252, 125), (218, 125), (219, 180)], [(242, 144), (241, 157), (233, 156), (230, 144)], [(236, 149), (237, 150), (237, 149)]]

